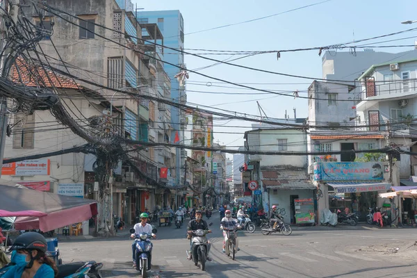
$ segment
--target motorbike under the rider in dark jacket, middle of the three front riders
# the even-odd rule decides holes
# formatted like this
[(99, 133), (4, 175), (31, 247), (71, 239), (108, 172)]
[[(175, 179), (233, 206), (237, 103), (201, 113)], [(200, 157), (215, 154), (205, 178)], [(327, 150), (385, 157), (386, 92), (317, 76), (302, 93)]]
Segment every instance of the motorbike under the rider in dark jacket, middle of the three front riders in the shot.
[[(211, 226), (213, 223), (208, 224)], [(211, 230), (202, 230), (198, 229), (197, 231), (191, 231), (193, 238), (191, 238), (191, 242), (193, 246), (191, 247), (191, 259), (194, 262), (194, 265), (198, 265), (200, 263), (200, 269), (206, 270), (206, 261), (207, 255), (210, 251), (208, 245), (208, 240), (206, 238), (206, 234), (211, 233)], [(187, 255), (189, 256), (189, 251), (187, 250)]]

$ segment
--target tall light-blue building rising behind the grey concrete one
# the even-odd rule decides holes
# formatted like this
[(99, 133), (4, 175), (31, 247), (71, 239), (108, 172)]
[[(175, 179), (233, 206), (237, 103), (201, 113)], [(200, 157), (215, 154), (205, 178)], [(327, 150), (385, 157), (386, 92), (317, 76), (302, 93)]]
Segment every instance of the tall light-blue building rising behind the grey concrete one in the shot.
[[(165, 65), (164, 69), (171, 79), (171, 99), (172, 101), (186, 104), (186, 84), (185, 81), (179, 81), (174, 76), (181, 72), (179, 67), (186, 68), (184, 64), (184, 55), (181, 52), (184, 48), (184, 21), (179, 10), (157, 10), (157, 11), (137, 11), (136, 17), (141, 24), (158, 24), (159, 29), (165, 38), (163, 45), (170, 47), (165, 49), (163, 56)], [(180, 142), (183, 142), (185, 129), (185, 113), (177, 107), (171, 107), (171, 138), (178, 134)], [(181, 149), (177, 149), (176, 183), (182, 184), (183, 165), (186, 154), (181, 154)]]

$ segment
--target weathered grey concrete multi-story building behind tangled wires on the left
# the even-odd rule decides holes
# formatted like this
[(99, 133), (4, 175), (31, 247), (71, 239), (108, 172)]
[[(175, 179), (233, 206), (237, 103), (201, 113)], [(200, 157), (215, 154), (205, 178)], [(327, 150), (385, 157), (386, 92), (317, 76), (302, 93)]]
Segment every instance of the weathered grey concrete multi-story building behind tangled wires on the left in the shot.
[[(55, 46), (51, 44), (49, 38), (46, 38), (40, 43), (42, 51), (51, 57), (62, 58), (67, 65), (73, 65), (64, 68), (56, 63), (56, 67), (63, 67), (74, 76), (78, 76), (77, 83), (83, 88), (97, 90), (97, 86), (80, 79), (95, 81), (107, 87), (97, 92), (108, 101), (109, 107), (105, 114), (113, 119), (112, 130), (115, 135), (143, 142), (148, 140), (169, 142), (172, 135), (170, 107), (158, 101), (126, 97), (112, 90), (170, 98), (171, 79), (164, 71), (163, 48), (151, 43), (157, 41), (163, 44), (163, 35), (158, 24), (139, 24), (133, 14), (130, 1), (71, 0), (65, 1), (64, 6), (61, 1), (48, 3), (51, 6), (60, 6), (67, 13), (77, 15), (81, 19), (70, 19), (74, 23), (70, 24), (58, 20), (56, 16), (46, 16), (42, 17), (41, 23), (41, 18), (35, 10), (28, 8), (26, 14), (33, 15), (31, 19), (34, 24), (38, 26), (42, 24), (42, 28), (47, 30), (54, 28), (56, 31), (50, 36), (50, 40), (56, 42)], [(129, 3), (128, 10), (122, 8), (124, 3)], [(65, 33), (65, 36), (59, 35), (62, 33)], [(104, 35), (113, 42), (103, 40), (97, 34)], [(138, 40), (142, 36), (147, 43)], [(128, 48), (120, 47), (116, 42)], [(59, 57), (55, 47), (59, 51)], [(84, 71), (88, 71), (88, 74)], [(103, 113), (103, 109), (97, 108), (92, 101), (88, 106)], [(88, 113), (83, 113), (81, 116), (72, 114), (72, 116), (82, 120), (83, 117), (88, 117)], [(78, 141), (58, 142), (58, 149), (73, 146), (75, 142)], [(34, 145), (38, 144), (42, 145), (43, 142), (39, 142), (35, 136)], [(145, 148), (139, 152), (129, 153), (129, 157), (115, 170), (116, 178), (113, 185), (113, 211), (116, 215), (122, 216), (127, 223), (134, 222), (138, 212), (145, 208), (172, 205), (173, 193), (170, 190), (160, 189), (160, 186), (173, 185), (174, 177), (168, 175), (167, 179), (160, 179), (158, 173), (161, 168), (175, 169), (177, 159), (175, 152), (165, 147)], [(79, 179), (83, 179), (84, 191), (89, 193), (87, 197), (94, 197), (92, 192), (95, 179), (91, 167), (94, 161), (95, 157), (90, 155), (77, 158), (72, 170), (72, 175), (80, 175), (80, 169), (83, 172)], [(65, 182), (75, 181), (70, 179)]]

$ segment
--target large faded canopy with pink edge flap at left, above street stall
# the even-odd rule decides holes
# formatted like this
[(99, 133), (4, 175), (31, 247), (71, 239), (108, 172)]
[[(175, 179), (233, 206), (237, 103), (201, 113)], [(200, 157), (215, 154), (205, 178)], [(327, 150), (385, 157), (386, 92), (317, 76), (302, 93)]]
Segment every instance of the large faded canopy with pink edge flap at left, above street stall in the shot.
[(97, 215), (97, 201), (0, 185), (0, 217), (16, 217), (15, 229), (51, 231)]

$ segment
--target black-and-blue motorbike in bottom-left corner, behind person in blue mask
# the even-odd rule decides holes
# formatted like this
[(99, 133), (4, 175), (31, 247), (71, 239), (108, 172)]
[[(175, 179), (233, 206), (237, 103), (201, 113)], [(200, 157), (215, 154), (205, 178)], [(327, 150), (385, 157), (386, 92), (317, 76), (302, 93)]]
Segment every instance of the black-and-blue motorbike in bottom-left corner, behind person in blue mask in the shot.
[[(8, 263), (0, 269), (0, 277), (5, 274), (10, 267), (15, 263)], [(103, 268), (102, 263), (96, 263), (95, 261), (88, 262), (76, 262), (76, 263), (65, 263), (63, 265), (56, 265), (58, 268), (57, 278), (76, 278), (76, 277), (90, 277), (90, 278), (101, 278), (100, 269)]]

